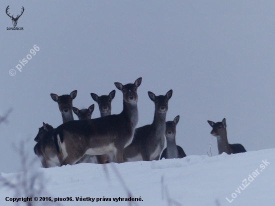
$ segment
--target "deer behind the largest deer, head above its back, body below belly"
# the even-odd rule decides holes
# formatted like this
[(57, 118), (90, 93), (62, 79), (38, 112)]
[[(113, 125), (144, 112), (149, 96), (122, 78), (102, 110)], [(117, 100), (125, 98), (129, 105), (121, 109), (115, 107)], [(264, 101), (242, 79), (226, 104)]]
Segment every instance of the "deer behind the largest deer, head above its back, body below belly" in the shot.
[[(115, 90), (112, 90), (109, 95), (98, 96), (95, 93), (90, 93), (92, 99), (98, 103), (100, 116), (107, 116), (111, 114), (111, 101), (114, 98)], [(96, 155), (97, 163), (103, 164), (112, 162), (114, 153)]]

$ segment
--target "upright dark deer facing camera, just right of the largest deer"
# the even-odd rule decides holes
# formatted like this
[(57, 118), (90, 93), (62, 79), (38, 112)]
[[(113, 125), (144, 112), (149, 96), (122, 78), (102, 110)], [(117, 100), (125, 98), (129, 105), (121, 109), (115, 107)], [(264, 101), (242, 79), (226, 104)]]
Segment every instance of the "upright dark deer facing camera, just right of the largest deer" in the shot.
[(153, 122), (135, 129), (132, 142), (123, 151), (125, 161), (158, 160), (164, 147), (165, 118), (172, 89), (158, 96), (148, 91), (148, 96), (154, 102)]

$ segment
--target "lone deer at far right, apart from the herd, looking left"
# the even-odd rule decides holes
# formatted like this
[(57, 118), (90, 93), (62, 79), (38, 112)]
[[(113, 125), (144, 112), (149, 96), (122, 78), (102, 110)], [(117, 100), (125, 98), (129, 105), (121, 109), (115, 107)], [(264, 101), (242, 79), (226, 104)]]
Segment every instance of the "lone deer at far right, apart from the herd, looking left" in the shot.
[(228, 143), (225, 118), (223, 118), (222, 121), (218, 121), (216, 123), (209, 120), (207, 120), (207, 122), (213, 128), (210, 134), (217, 137), (218, 154), (221, 154), (222, 152), (227, 154), (246, 152), (245, 148), (241, 144)]

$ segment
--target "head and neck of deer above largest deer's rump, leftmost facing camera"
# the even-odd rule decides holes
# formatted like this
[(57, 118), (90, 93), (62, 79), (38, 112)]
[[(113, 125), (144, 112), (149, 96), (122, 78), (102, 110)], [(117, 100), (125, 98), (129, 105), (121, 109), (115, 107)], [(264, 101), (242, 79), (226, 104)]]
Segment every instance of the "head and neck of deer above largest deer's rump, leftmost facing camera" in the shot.
[(55, 93), (51, 93), (50, 96), (53, 101), (58, 103), (59, 110), (62, 115), (63, 123), (73, 120), (72, 116), (72, 99), (76, 97), (77, 90), (70, 92), (70, 94), (64, 94), (58, 96)]

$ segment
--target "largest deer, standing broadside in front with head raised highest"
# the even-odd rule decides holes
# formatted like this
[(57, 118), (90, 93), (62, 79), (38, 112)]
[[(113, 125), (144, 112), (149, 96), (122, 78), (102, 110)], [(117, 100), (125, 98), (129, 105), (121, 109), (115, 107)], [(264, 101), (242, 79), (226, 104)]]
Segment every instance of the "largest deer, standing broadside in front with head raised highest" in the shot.
[(53, 134), (59, 153), (60, 166), (74, 164), (84, 154), (98, 155), (114, 152), (115, 161), (123, 162), (123, 149), (133, 138), (138, 121), (137, 88), (142, 78), (123, 85), (114, 82), (123, 94), (123, 109), (119, 114), (99, 118), (68, 121), (59, 125)]

